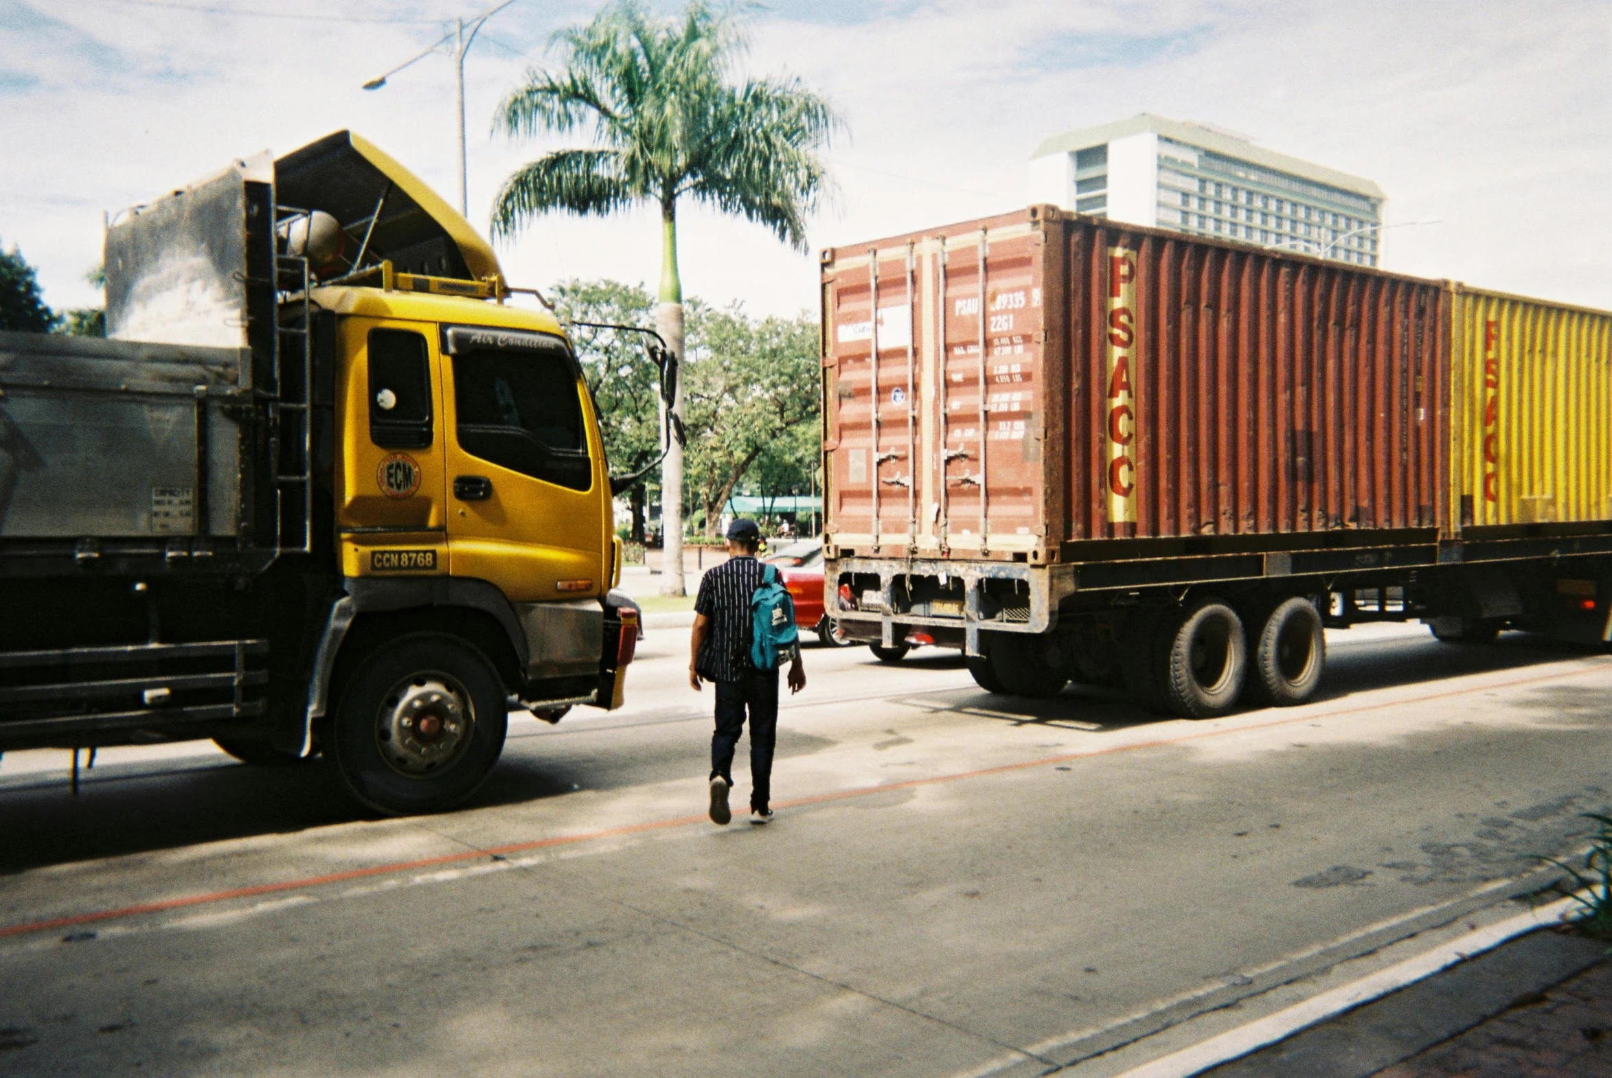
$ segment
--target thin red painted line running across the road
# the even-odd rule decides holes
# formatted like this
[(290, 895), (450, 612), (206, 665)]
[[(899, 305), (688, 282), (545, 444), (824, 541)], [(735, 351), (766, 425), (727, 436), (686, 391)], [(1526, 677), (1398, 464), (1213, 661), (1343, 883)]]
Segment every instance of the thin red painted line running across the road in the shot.
[[(1132, 753), (1136, 749), (1153, 749), (1164, 748), (1170, 744), (1183, 744), (1186, 741), (1203, 741), (1204, 738), (1217, 738), (1228, 733), (1249, 733), (1254, 730), (1270, 730), (1275, 727), (1286, 727), (1298, 722), (1314, 722), (1317, 719), (1335, 719), (1340, 715), (1357, 715), (1370, 711), (1381, 711), (1385, 707), (1402, 707), (1414, 704), (1425, 704), (1436, 699), (1451, 699), (1456, 696), (1470, 696), (1473, 693), (1488, 693), (1502, 688), (1517, 688), (1523, 685), (1538, 685), (1541, 682), (1556, 682), (1568, 677), (1577, 677), (1580, 674), (1589, 674), (1597, 669), (1604, 669), (1612, 664), (1612, 659), (1593, 659), (1573, 670), (1562, 670), (1559, 674), (1541, 674), (1536, 677), (1514, 678), (1510, 682), (1498, 682), (1488, 685), (1473, 685), (1469, 688), (1456, 688), (1444, 693), (1428, 693), (1425, 696), (1414, 696), (1409, 699), (1391, 699), (1377, 704), (1364, 704), (1359, 707), (1340, 707), (1336, 711), (1323, 712), (1307, 712), (1302, 715), (1291, 715), (1288, 719), (1273, 719), (1270, 722), (1259, 722), (1249, 725), (1236, 727), (1217, 727), (1214, 730), (1201, 730), (1198, 733), (1183, 733), (1174, 738), (1154, 738), (1153, 741), (1133, 741), (1128, 744), (1109, 744), (1103, 748), (1080, 749), (1075, 753), (1062, 753), (1059, 756), (1046, 756), (1033, 761), (1022, 761), (1017, 764), (999, 764), (996, 767), (980, 767), (969, 772), (954, 772), (951, 775), (933, 775), (930, 778), (909, 778), (906, 782), (883, 783), (879, 786), (858, 786), (854, 790), (838, 790), (833, 793), (821, 793), (808, 798), (793, 798), (788, 801), (779, 801), (780, 809), (795, 809), (808, 804), (824, 804), (829, 801), (846, 801), (850, 798), (866, 798), (870, 794), (888, 793), (891, 790), (912, 790), (916, 786), (935, 786), (940, 783), (962, 782), (966, 778), (983, 778), (985, 775), (1003, 775), (1008, 772), (1028, 770), (1032, 767), (1048, 767), (1051, 764), (1062, 764), (1067, 761), (1090, 759), (1093, 756), (1111, 756), (1114, 753)], [(395, 875), (400, 872), (411, 872), (414, 869), (430, 869), (435, 865), (451, 865), (463, 864), (466, 860), (479, 860), (482, 857), (506, 857), (509, 854), (521, 854), (532, 849), (546, 849), (553, 846), (571, 846), (575, 843), (588, 843), (601, 838), (616, 838), (621, 835), (642, 835), (645, 831), (663, 831), (677, 827), (690, 827), (693, 823), (704, 823), (704, 815), (682, 815), (669, 820), (650, 820), (648, 823), (627, 823), (622, 827), (608, 827), (598, 831), (580, 831), (577, 835), (556, 835), (555, 838), (540, 838), (529, 843), (511, 843), (508, 846), (493, 846), (490, 849), (467, 849), (458, 854), (442, 854), (440, 857), (421, 857), (418, 860), (398, 860), (384, 865), (371, 865), (368, 869), (348, 869), (347, 872), (330, 872), (319, 877), (303, 877), (300, 880), (282, 880), (280, 883), (260, 883), (250, 888), (232, 888), (227, 891), (210, 891), (206, 894), (187, 894), (184, 898), (161, 899), (156, 902), (140, 902), (137, 906), (121, 906), (118, 909), (95, 910), (90, 914), (74, 914), (71, 917), (53, 917), (50, 920), (32, 920), (23, 922), (19, 925), (10, 925), (0, 928), (0, 939), (6, 936), (26, 936), (40, 931), (52, 931), (55, 928), (73, 928), (77, 925), (90, 925), (103, 920), (118, 920), (123, 917), (137, 917), (140, 914), (161, 914), (172, 909), (185, 909), (189, 906), (210, 906), (213, 902), (227, 902), (239, 898), (253, 898), (258, 894), (284, 894), (287, 891), (305, 891), (308, 888), (326, 886), (329, 883), (343, 883), (347, 880), (363, 880), (366, 877)]]

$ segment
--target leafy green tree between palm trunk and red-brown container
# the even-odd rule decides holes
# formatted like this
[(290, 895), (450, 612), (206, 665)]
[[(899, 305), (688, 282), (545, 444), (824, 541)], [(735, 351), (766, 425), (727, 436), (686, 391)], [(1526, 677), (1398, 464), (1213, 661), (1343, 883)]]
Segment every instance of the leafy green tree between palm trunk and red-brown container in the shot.
[(758, 464), (769, 487), (809, 483), (821, 448), (817, 319), (696, 306), (688, 335), (688, 479), (714, 538), (722, 506)]

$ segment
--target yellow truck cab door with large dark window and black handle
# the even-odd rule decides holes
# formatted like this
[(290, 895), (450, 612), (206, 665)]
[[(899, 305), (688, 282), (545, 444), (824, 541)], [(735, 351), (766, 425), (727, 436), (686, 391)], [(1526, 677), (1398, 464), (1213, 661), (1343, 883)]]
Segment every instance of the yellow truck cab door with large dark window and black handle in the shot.
[(603, 446), (559, 337), (447, 327), (448, 559), (513, 603), (608, 587)]

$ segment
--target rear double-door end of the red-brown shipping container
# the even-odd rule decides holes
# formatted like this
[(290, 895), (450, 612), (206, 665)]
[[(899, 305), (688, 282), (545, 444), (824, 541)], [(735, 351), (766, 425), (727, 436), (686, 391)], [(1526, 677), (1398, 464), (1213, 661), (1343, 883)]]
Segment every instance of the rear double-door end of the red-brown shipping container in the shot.
[(1032, 211), (825, 251), (832, 541), (1040, 561), (1061, 516), (1061, 461), (1043, 453), (1045, 277), (1061, 264)]

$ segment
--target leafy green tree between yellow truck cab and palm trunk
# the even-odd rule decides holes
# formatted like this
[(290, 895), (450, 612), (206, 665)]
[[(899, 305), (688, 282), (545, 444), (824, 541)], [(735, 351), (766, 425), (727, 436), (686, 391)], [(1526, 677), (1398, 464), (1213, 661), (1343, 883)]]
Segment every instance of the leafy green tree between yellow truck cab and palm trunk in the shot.
[[(643, 285), (616, 280), (566, 280), (550, 290), (566, 322), (643, 325), (654, 298)], [(572, 325), (571, 337), (593, 392), (604, 453), (613, 472), (637, 472), (661, 453), (659, 374), (645, 358), (643, 335)], [(648, 479), (629, 491), (634, 541), (643, 541), (643, 508), (656, 488)]]

